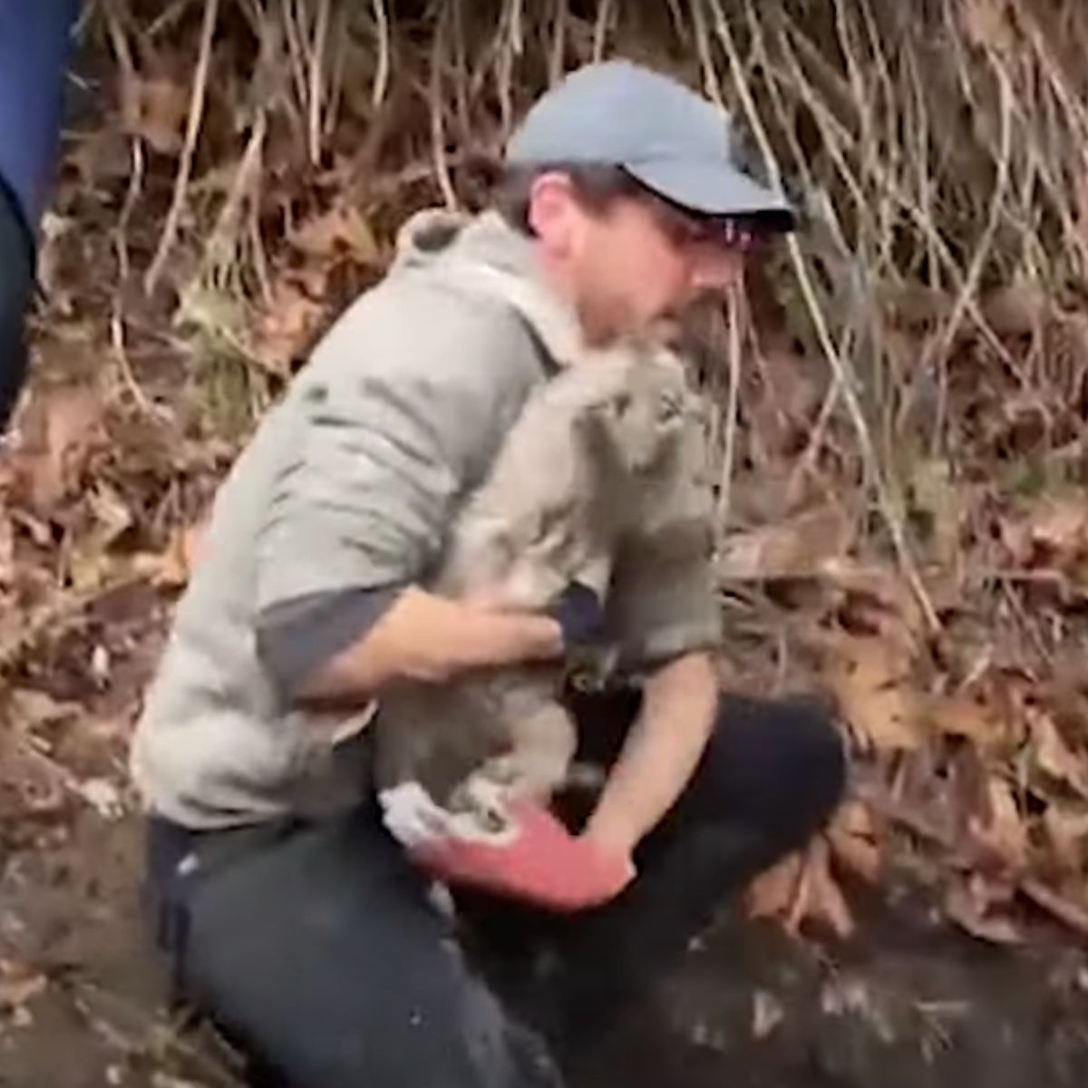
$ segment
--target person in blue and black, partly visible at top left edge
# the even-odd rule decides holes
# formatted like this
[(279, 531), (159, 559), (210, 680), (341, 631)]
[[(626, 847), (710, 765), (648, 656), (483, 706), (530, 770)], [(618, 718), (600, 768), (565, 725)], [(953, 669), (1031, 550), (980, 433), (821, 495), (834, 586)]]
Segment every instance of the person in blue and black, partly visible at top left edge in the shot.
[(24, 321), (78, 0), (0, 0), (0, 431), (26, 380)]

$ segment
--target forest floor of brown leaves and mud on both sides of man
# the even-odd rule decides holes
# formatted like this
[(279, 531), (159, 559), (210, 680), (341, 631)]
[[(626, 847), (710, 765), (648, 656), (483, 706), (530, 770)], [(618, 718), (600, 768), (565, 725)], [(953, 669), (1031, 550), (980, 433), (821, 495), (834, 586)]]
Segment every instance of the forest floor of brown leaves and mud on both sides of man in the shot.
[[(128, 739), (218, 481), (403, 214), (472, 188), (443, 123), (496, 103), (490, 70), (410, 77), (452, 48), (423, 16), (378, 27), (391, 77), (324, 3), (94, 7), (0, 450), (0, 1088), (224, 1088), (231, 1055), (164, 1009)], [(570, 26), (584, 52), (593, 26)], [(322, 36), (327, 72), (302, 55)], [(905, 280), (880, 295), (870, 354), (893, 380), (857, 381), (868, 431), (788, 290), (761, 306), (753, 283), (735, 350), (706, 346), (732, 458), (724, 670), (832, 700), (857, 775), (828, 833), (602, 1040), (589, 1085), (1088, 1083), (1088, 318), (1038, 284), (963, 282), (954, 306)]]

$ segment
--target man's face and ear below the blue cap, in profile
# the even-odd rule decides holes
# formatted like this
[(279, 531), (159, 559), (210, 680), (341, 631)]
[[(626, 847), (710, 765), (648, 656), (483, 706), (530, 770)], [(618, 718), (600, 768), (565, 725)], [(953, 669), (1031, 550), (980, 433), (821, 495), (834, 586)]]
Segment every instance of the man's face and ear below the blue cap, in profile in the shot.
[(623, 196), (592, 211), (569, 188), (542, 194), (537, 235), (591, 342), (676, 317), (700, 295), (724, 292), (743, 275), (740, 248), (664, 202)]

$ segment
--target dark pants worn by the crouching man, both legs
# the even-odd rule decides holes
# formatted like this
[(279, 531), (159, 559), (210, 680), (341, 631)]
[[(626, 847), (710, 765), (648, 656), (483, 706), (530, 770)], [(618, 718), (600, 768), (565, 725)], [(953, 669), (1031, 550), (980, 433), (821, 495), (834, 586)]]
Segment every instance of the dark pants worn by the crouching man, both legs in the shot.
[[(636, 707), (634, 693), (583, 696), (582, 756), (614, 755)], [(240, 849), (213, 836), (209, 864), (172, 881), (183, 987), (270, 1086), (559, 1085), (730, 893), (820, 827), (844, 762), (813, 707), (724, 696), (689, 789), (640, 846), (635, 882), (572, 917), (465, 895), (453, 920), (372, 804), (235, 838)], [(180, 839), (152, 821), (160, 888)]]

